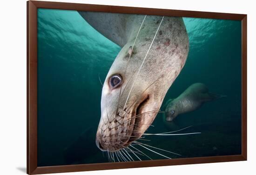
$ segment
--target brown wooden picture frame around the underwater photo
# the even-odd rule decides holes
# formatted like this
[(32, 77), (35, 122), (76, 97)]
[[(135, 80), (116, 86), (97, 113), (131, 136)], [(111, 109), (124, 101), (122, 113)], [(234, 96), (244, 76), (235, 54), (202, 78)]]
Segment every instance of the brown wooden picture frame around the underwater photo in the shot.
[[(165, 16), (182, 16), (242, 21), (242, 154), (232, 156), (209, 156), (149, 160), (141, 162), (95, 163), (63, 166), (37, 166), (37, 9), (65, 9), (78, 11), (138, 13)], [(27, 174), (46, 174), (102, 169), (125, 169), (151, 166), (168, 166), (209, 162), (247, 160), (247, 15), (217, 12), (196, 12), (126, 6), (27, 1)]]

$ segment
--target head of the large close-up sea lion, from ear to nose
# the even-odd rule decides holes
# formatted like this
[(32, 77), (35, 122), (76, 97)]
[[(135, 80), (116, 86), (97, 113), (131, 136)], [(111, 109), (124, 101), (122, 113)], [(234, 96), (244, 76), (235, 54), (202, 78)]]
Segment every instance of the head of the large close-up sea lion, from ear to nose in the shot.
[(136, 52), (136, 48), (131, 53), (127, 44), (108, 72), (96, 134), (96, 144), (102, 151), (119, 150), (140, 138), (160, 109), (167, 89), (160, 83), (164, 75), (148, 73), (148, 63), (138, 73), (142, 60), (143, 53)]

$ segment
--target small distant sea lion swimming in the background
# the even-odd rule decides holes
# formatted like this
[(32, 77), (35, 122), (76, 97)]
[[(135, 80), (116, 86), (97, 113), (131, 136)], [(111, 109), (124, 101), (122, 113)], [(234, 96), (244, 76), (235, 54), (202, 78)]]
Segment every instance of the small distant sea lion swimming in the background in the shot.
[(205, 102), (222, 97), (225, 97), (225, 95), (209, 93), (208, 88), (203, 83), (194, 83), (177, 98), (167, 101), (165, 119), (171, 122), (179, 114), (195, 111)]

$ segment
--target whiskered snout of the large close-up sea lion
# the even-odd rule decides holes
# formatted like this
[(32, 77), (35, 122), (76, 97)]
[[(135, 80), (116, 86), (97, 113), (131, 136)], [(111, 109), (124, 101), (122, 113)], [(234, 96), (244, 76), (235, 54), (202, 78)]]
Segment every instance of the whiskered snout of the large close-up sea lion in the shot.
[(140, 138), (152, 123), (156, 113), (145, 113), (150, 98), (148, 94), (142, 96), (140, 100), (131, 100), (133, 104), (129, 102), (125, 108), (104, 108), (95, 141), (101, 151), (115, 152), (127, 147)]

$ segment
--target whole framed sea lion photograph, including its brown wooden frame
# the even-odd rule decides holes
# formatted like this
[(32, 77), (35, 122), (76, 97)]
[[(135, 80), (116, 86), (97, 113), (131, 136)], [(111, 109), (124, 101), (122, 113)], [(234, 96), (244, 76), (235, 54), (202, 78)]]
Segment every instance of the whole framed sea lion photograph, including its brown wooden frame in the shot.
[(27, 1), (27, 174), (247, 159), (247, 16)]

